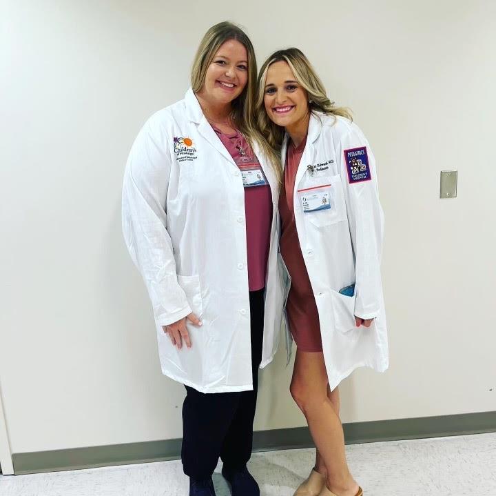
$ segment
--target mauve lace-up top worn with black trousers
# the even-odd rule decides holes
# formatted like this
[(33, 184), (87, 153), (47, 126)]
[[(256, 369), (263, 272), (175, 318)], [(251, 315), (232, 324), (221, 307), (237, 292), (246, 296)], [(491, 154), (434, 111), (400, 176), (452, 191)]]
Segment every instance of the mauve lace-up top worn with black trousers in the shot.
[[(234, 161), (243, 157), (252, 157), (252, 163), (258, 163), (251, 146), (238, 131), (227, 135), (216, 126), (212, 126), (220, 141), (233, 157)], [(238, 147), (238, 148), (237, 148)], [(237, 162), (236, 162), (237, 163)], [(265, 288), (267, 261), (269, 260), (270, 234), (272, 224), (272, 193), (269, 184), (245, 188), (245, 219), (247, 232), (248, 287), (250, 291)]]

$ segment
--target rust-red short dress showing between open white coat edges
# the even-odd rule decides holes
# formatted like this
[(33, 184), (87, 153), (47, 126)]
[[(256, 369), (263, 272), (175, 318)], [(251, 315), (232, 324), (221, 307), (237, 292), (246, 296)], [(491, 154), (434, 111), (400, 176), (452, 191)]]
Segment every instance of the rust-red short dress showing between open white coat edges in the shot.
[(300, 248), (293, 207), (296, 171), (306, 142), (305, 138), (298, 148), (290, 143), (287, 150), (284, 186), (279, 197), (280, 252), (291, 275), (286, 312), (293, 339), (300, 351), (321, 352), (318, 310)]

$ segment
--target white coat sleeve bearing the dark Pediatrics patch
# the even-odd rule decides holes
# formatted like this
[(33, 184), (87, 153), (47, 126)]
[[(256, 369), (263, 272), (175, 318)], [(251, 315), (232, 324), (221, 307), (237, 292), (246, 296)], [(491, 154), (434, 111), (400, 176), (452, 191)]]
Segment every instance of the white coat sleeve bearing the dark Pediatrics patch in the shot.
[[(371, 179), (354, 182), (349, 177), (344, 151), (362, 147), (366, 147)], [(355, 315), (362, 319), (374, 319), (378, 317), (382, 305), (380, 261), (384, 232), (375, 159), (369, 143), (354, 124), (340, 139), (336, 152), (355, 255)]]

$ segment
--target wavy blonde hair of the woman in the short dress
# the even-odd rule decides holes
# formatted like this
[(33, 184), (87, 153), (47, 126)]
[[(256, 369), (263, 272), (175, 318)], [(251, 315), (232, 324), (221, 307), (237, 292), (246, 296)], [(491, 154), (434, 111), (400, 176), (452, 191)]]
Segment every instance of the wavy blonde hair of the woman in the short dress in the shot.
[(267, 81), (267, 70), (276, 62), (285, 61), (293, 72), (296, 81), (307, 91), (309, 97), (309, 111), (322, 112), (327, 115), (340, 115), (352, 120), (351, 112), (346, 107), (336, 107), (334, 102), (329, 100), (322, 81), (312, 67), (309, 59), (304, 56), (298, 48), (287, 48), (278, 50), (271, 54), (265, 61), (260, 74), (258, 75), (258, 97), (256, 101), (256, 120), (258, 130), (265, 137), (265, 141), (278, 155), (285, 136), (285, 128), (273, 123), (265, 111), (264, 95), (265, 83)]

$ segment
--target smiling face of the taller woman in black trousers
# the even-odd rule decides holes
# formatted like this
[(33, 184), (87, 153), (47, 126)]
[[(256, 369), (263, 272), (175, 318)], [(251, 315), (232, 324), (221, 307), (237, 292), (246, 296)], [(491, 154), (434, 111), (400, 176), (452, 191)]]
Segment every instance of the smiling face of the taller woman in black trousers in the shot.
[(220, 46), (198, 93), (211, 103), (229, 103), (239, 97), (248, 81), (248, 53), (236, 39)]

